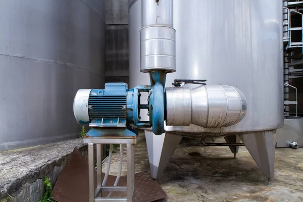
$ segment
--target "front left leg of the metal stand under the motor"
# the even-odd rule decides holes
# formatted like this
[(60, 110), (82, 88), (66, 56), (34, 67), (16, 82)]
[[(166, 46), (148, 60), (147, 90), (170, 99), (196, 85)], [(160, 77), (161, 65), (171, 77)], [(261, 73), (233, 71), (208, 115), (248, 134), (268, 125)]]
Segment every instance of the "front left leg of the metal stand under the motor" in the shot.
[(89, 181), (89, 202), (94, 202), (94, 149), (93, 143), (88, 144), (88, 181)]

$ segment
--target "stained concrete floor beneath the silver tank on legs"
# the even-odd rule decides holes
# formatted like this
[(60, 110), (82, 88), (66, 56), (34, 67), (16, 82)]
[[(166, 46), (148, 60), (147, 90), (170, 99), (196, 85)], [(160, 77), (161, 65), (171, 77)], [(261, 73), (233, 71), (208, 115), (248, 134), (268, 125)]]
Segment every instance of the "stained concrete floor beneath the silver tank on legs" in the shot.
[[(266, 186), (267, 179), (245, 147), (239, 148), (234, 159), (228, 147), (201, 147), (195, 142), (183, 138), (158, 179), (167, 193), (161, 202), (303, 201), (303, 148), (276, 149), (275, 177), (272, 186)], [(135, 172), (149, 171), (144, 133), (139, 135), (135, 153)], [(111, 174), (117, 174), (118, 164), (115, 153)]]

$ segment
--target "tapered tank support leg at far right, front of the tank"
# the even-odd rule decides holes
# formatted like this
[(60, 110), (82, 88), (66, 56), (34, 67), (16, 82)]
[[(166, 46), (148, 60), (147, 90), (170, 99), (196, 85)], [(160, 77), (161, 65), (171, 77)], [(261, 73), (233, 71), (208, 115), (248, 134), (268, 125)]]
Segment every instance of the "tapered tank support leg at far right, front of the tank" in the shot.
[(274, 176), (276, 130), (239, 135), (267, 178)]

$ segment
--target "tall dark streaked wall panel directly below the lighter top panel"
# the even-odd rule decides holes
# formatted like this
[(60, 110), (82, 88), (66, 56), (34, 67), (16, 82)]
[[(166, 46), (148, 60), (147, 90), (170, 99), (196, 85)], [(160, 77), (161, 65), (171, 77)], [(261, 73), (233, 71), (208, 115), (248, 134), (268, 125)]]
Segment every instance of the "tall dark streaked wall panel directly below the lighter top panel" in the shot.
[(128, 76), (128, 25), (106, 25), (105, 75)]

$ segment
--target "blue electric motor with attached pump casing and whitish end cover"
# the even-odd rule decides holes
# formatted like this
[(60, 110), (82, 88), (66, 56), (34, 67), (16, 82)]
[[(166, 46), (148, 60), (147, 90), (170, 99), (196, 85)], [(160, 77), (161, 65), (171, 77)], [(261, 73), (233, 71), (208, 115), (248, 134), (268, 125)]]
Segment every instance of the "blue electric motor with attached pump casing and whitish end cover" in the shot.
[[(140, 104), (141, 92), (149, 94), (147, 105)], [(105, 89), (80, 89), (74, 99), (74, 115), (78, 123), (89, 123), (90, 127), (153, 126), (154, 133), (160, 135), (164, 132), (163, 93), (162, 85), (155, 85), (153, 89), (151, 86), (128, 89), (126, 83), (106, 83)], [(159, 110), (154, 110), (155, 105), (160, 105), (156, 107)], [(140, 109), (148, 110), (149, 121), (140, 121)]]

